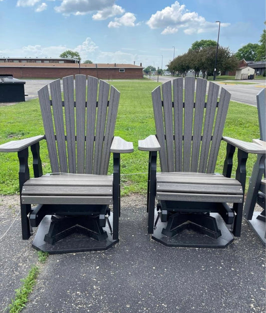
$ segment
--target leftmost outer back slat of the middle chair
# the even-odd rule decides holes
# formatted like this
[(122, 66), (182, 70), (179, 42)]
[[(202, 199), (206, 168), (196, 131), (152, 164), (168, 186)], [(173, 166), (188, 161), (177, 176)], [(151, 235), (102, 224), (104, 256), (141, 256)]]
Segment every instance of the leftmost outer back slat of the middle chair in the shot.
[(153, 102), (156, 135), (161, 146), (161, 149), (159, 151), (161, 171), (168, 172), (165, 134), (164, 134), (164, 122), (163, 122), (163, 108), (162, 108), (162, 98), (161, 98), (161, 86), (156, 87), (152, 91), (152, 102)]

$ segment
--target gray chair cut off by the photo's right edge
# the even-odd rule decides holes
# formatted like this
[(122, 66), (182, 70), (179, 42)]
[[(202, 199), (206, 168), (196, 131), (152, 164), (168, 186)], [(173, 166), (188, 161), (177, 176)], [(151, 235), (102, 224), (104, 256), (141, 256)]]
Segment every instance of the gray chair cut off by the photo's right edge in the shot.
[[(260, 125), (261, 140), (254, 140), (261, 144), (266, 150), (266, 98), (265, 89), (262, 89), (257, 95), (257, 108)], [(250, 185), (247, 192), (247, 198), (244, 207), (244, 215), (255, 233), (259, 236), (265, 245), (265, 198), (266, 198), (266, 179), (265, 176), (265, 153), (258, 154), (257, 162), (254, 165)], [(254, 211), (256, 202), (263, 208), (262, 212)]]

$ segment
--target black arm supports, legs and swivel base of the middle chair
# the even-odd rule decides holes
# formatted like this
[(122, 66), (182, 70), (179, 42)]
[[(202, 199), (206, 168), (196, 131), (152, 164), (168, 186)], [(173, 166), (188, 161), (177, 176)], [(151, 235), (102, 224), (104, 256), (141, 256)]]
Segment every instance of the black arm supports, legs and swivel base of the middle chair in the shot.
[[(232, 144), (227, 144), (227, 153), (224, 162), (223, 175), (231, 177), (233, 168), (233, 156), (236, 147)], [(238, 149), (238, 167), (236, 170), (236, 179), (241, 183), (243, 194), (245, 194), (246, 186), (246, 162), (248, 153)], [(243, 201), (234, 203), (230, 208), (226, 203), (207, 203), (207, 202), (186, 202), (186, 201), (158, 201), (157, 212), (158, 217), (155, 218), (155, 198), (156, 198), (156, 162), (157, 151), (149, 152), (149, 168), (148, 168), (148, 192), (147, 192), (147, 211), (148, 211), (148, 233), (153, 234), (152, 238), (166, 246), (175, 247), (217, 247), (224, 248), (233, 241), (230, 234), (221, 236), (220, 229), (217, 226), (217, 213), (222, 217), (227, 225), (233, 224), (232, 233), (236, 237), (241, 235)], [(244, 197), (243, 197), (244, 198)], [(214, 214), (213, 214), (214, 213)], [(213, 215), (215, 217), (213, 217)], [(160, 218), (160, 221), (159, 221)], [(189, 223), (185, 223), (190, 221)], [(157, 228), (157, 223), (163, 223), (165, 228), (159, 226), (160, 233)], [(167, 222), (167, 224), (165, 223)], [(219, 227), (223, 228), (223, 223), (219, 219)], [(197, 232), (204, 233), (209, 237), (214, 238), (214, 242), (210, 243), (207, 240), (204, 243), (195, 244), (193, 242), (179, 242), (178, 240), (170, 241), (169, 238), (182, 232), (184, 229), (193, 229)], [(228, 231), (225, 228), (225, 231)], [(229, 232), (229, 231), (228, 231)], [(168, 239), (163, 238), (163, 235)], [(218, 238), (218, 239), (217, 239)], [(217, 240), (216, 240), (217, 239)]]

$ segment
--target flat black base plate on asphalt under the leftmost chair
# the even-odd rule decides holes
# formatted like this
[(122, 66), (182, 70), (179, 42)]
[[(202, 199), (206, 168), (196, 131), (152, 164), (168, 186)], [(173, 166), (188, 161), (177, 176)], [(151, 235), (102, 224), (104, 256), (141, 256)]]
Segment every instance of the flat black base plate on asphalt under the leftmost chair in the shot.
[[(113, 215), (111, 212), (109, 217), (111, 225), (113, 219), (112, 217)], [(86, 219), (86, 217), (83, 217), (83, 219)], [(32, 247), (34, 249), (47, 252), (49, 254), (103, 251), (111, 248), (114, 244), (119, 242), (119, 240), (112, 239), (107, 223), (106, 226), (102, 228), (101, 234), (97, 234), (96, 236), (94, 231), (87, 230), (80, 226), (71, 226), (69, 229), (64, 231), (62, 236), (59, 234), (51, 236), (53, 238), (50, 236), (47, 238), (50, 225), (53, 223), (52, 220), (52, 215), (46, 215), (42, 219), (32, 242)]]

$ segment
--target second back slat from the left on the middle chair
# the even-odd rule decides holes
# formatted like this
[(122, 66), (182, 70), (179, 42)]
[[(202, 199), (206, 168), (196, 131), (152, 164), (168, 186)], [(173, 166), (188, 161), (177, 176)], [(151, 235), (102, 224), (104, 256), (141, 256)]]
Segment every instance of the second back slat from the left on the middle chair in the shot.
[(174, 132), (173, 132), (173, 105), (171, 81), (162, 85), (164, 126), (167, 151), (168, 171), (174, 171)]

